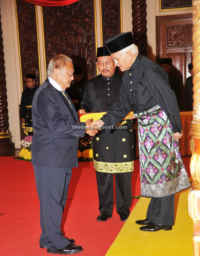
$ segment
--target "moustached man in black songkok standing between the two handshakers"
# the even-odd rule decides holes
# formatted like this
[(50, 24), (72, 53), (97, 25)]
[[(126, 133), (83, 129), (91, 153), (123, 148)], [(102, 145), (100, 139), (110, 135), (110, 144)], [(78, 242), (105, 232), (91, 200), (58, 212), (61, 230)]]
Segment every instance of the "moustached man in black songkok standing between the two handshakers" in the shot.
[[(92, 110), (108, 111), (119, 96), (123, 75), (115, 72), (115, 63), (106, 47), (97, 48), (96, 64), (100, 75), (88, 82), (81, 101), (80, 113)], [(117, 213), (121, 221), (125, 221), (129, 216), (132, 202), (131, 177), (134, 170), (133, 126), (131, 120), (123, 121), (120, 125), (115, 127), (111, 134), (102, 130), (92, 139), (99, 221), (106, 221), (112, 217), (114, 174)]]

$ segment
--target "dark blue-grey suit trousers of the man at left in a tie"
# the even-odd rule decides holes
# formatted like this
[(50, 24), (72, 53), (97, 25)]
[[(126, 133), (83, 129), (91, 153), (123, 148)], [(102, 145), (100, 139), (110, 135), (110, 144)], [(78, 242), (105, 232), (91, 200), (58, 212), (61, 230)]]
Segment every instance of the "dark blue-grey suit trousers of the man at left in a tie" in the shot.
[(62, 249), (70, 242), (61, 231), (62, 214), (67, 200), (72, 168), (34, 165), (35, 183), (40, 201), (40, 246)]

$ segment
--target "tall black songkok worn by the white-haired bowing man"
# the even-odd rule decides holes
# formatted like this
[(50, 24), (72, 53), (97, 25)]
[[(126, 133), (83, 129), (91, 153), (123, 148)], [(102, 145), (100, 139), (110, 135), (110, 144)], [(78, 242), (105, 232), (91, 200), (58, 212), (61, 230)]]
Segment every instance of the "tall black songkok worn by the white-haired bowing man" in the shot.
[(132, 32), (120, 33), (110, 37), (105, 45), (110, 53), (121, 51), (122, 49), (134, 44)]

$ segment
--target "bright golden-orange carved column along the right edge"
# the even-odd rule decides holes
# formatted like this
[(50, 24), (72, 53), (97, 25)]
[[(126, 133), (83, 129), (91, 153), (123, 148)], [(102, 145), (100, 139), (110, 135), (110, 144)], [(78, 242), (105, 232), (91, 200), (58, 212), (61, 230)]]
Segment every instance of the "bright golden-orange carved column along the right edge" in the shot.
[(200, 0), (193, 0), (193, 121), (191, 136), (195, 142), (195, 151), (190, 162), (192, 188), (188, 195), (189, 215), (193, 219), (194, 255), (200, 255)]

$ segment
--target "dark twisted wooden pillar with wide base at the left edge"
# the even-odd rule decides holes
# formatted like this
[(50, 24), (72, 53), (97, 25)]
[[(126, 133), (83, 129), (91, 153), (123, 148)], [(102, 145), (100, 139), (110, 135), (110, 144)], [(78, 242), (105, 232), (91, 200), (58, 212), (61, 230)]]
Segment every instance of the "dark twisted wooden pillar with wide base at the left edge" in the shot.
[[(0, 9), (1, 11), (1, 9)], [(3, 52), (2, 23), (0, 14), (0, 156), (14, 154), (14, 143), (11, 141), (8, 123), (8, 103), (5, 81), (5, 61)]]

